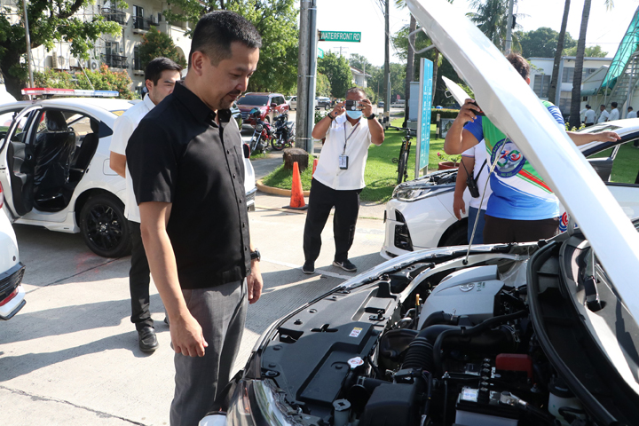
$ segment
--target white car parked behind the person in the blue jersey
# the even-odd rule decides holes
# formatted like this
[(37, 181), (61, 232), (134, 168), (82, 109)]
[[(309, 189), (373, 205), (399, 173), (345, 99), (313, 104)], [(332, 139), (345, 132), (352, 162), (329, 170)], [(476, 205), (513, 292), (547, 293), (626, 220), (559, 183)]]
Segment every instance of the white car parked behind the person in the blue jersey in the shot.
[[(639, 182), (636, 181), (636, 177), (622, 178), (619, 182), (610, 181), (621, 146), (630, 149), (632, 142), (639, 139), (639, 119), (605, 122), (581, 131), (601, 130), (614, 130), (621, 140), (615, 143), (594, 142), (580, 146), (579, 149), (604, 180), (627, 216), (639, 217)], [(622, 157), (619, 156), (619, 161), (625, 160)], [(635, 169), (635, 174), (637, 172), (639, 165)], [(434, 171), (395, 188), (384, 212), (386, 229), (383, 248), (380, 251), (384, 258), (389, 259), (422, 248), (468, 243), (466, 229), (470, 194), (468, 190), (464, 193), (467, 212), (463, 213), (461, 220), (457, 220), (453, 212), (456, 177), (457, 170)], [(563, 206), (561, 211), (563, 216), (559, 227), (561, 231), (565, 231), (568, 215), (565, 214)]]

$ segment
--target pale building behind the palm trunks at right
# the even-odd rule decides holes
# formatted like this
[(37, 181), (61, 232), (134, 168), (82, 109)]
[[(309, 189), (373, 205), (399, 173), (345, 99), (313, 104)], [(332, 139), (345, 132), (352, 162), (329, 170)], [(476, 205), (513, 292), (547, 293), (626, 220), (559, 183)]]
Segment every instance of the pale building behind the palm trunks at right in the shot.
[[(552, 79), (552, 68), (555, 62), (553, 58), (529, 58), (531, 67), (531, 88), (540, 99), (549, 100), (559, 106), (562, 114), (570, 114), (572, 99), (572, 79), (574, 77), (574, 56), (564, 56), (559, 64), (559, 78), (557, 79), (556, 99), (548, 99), (548, 89)], [(583, 74), (581, 76), (581, 90), (584, 91), (591, 76), (599, 75), (608, 69), (612, 58), (584, 58)], [(602, 76), (603, 78), (603, 76)], [(601, 80), (599, 80), (601, 81)], [(592, 84), (592, 83), (591, 83)], [(588, 98), (581, 98), (580, 110), (589, 102)], [(592, 104), (591, 104), (592, 105)], [(595, 109), (595, 106), (593, 106)], [(598, 108), (596, 108), (598, 111)]]

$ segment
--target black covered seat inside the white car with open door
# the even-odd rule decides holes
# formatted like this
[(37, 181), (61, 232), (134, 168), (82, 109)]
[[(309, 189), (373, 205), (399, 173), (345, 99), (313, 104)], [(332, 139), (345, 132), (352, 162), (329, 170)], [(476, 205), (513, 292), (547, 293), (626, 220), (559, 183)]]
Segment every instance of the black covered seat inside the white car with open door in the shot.
[(34, 198), (36, 203), (61, 197), (68, 181), (69, 162), (75, 150), (75, 133), (69, 131), (61, 111), (46, 111), (46, 130), (36, 137)]

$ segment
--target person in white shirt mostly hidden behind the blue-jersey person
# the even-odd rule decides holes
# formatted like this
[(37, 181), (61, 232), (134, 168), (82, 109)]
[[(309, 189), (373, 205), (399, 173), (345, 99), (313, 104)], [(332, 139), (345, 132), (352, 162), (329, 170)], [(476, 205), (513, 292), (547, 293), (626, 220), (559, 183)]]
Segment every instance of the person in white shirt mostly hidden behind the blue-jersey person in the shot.
[[(461, 165), (457, 170), (457, 180), (455, 182), (453, 198), (453, 212), (455, 217), (457, 217), (457, 220), (461, 220), (461, 211), (466, 213), (466, 203), (463, 201), (463, 196), (466, 191), (469, 191), (468, 173), (471, 171), (471, 178), (477, 183), (476, 185), (479, 195), (475, 197), (474, 194), (470, 192), (469, 223), (467, 233), (469, 244), (477, 217), (479, 217), (477, 220), (477, 229), (475, 230), (475, 238), (473, 238), (472, 244), (484, 243), (485, 209), (488, 206), (488, 199), (490, 198), (491, 193), (493, 193), (490, 183), (486, 185), (489, 169), (490, 164), (488, 164), (486, 160), (486, 148), (485, 141), (483, 139), (476, 146), (472, 146), (461, 154)], [(482, 194), (484, 194), (484, 201), (482, 201)], [(477, 195), (477, 193), (475, 195)]]

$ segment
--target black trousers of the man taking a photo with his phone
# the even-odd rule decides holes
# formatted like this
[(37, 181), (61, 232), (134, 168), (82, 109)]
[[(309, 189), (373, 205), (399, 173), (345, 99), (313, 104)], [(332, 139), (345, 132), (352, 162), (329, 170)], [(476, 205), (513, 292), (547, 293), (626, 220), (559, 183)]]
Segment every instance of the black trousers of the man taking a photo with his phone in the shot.
[(304, 225), (304, 258), (315, 262), (321, 248), (321, 233), (330, 210), (335, 207), (333, 233), (335, 234), (335, 257), (337, 262), (348, 259), (355, 238), (355, 225), (359, 213), (361, 189), (337, 191), (312, 179), (309, 209)]

